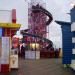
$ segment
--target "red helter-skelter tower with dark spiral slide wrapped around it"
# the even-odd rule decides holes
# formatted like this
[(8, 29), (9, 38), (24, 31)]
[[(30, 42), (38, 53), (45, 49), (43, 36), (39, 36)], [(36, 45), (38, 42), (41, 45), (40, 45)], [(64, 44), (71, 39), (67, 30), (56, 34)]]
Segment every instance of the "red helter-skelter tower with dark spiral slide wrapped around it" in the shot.
[(38, 43), (40, 51), (53, 49), (52, 41), (46, 38), (48, 33), (47, 27), (52, 20), (53, 17), (45, 9), (45, 3), (42, 3), (42, 0), (31, 0), (28, 8), (28, 29), (22, 30), (24, 41), (28, 44)]

